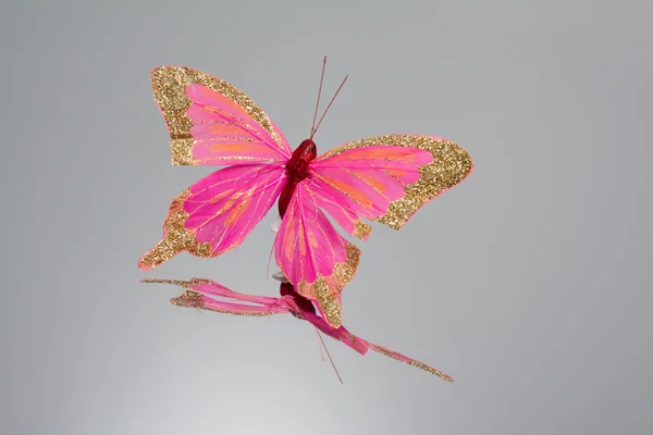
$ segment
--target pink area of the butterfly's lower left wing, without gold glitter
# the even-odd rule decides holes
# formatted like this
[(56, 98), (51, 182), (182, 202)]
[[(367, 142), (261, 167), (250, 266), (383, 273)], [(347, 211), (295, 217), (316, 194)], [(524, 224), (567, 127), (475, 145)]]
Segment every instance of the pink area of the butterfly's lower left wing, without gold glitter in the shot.
[(234, 165), (190, 187), (184, 202), (185, 226), (219, 253), (243, 243), (281, 194), (282, 165)]

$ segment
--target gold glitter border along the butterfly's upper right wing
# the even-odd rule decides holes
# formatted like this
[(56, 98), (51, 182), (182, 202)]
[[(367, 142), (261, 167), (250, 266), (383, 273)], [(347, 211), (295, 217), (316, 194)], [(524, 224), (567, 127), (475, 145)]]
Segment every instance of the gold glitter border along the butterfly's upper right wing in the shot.
[(418, 148), (433, 154), (433, 161), (419, 169), (419, 179), (406, 186), (406, 195), (392, 201), (387, 212), (374, 220), (395, 229), (404, 226), (424, 203), (460, 183), (473, 170), (471, 157), (459, 145), (445, 139), (415, 135), (387, 135), (355, 140), (326, 152), (324, 158), (373, 145)]

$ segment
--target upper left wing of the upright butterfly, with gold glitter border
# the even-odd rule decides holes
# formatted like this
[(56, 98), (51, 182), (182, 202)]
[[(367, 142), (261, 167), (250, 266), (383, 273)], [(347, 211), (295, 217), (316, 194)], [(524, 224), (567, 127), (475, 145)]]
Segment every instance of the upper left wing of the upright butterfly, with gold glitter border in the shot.
[(172, 164), (291, 157), (291, 146), (272, 120), (229, 83), (186, 66), (159, 66), (151, 72), (151, 87), (170, 132)]

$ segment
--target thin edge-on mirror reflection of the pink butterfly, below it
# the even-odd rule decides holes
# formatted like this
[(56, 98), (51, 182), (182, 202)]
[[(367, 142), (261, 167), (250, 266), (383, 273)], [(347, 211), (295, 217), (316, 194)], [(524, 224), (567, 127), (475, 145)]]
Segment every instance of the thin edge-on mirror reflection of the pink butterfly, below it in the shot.
[[(440, 370), (433, 369), (430, 365), (403, 356), (402, 353), (397, 353), (382, 346), (374, 345), (373, 343), (369, 343), (360, 337), (357, 337), (349, 333), (342, 325), (338, 327), (331, 326), (322, 316), (320, 316), (316, 312), (316, 309), (310, 302), (310, 300), (297, 294), (294, 290), (293, 285), (287, 282), (281, 283), (281, 298), (245, 295), (242, 293), (230, 290), (229, 288), (210, 279), (201, 278), (193, 278), (190, 281), (143, 279), (143, 282), (175, 284), (184, 288), (184, 293), (181, 296), (172, 298), (170, 300), (171, 303), (180, 307), (193, 307), (208, 311), (251, 316), (289, 313), (297, 319), (305, 320), (308, 323), (312, 324), (318, 330), (318, 336), (319, 332), (322, 332), (328, 336), (344, 343), (360, 355), (366, 355), (367, 351), (371, 349), (390, 358), (394, 358), (395, 360), (399, 360), (409, 365), (424, 370), (429, 373), (442, 377), (445, 381), (454, 382), (454, 380), (449, 375), (441, 372)], [(237, 301), (246, 303), (221, 301), (215, 299), (214, 297), (235, 299)], [(329, 351), (326, 352), (329, 353)], [(329, 358), (331, 359), (331, 356), (329, 356)], [(337, 376), (340, 378), (340, 374)]]

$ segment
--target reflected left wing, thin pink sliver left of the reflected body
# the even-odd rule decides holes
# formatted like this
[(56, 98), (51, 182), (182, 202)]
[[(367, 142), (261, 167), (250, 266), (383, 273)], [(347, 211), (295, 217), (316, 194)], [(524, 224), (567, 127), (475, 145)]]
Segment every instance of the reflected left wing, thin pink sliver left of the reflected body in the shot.
[[(193, 278), (190, 281), (176, 279), (143, 279), (143, 283), (174, 284), (184, 288), (184, 293), (170, 302), (177, 307), (193, 307), (207, 311), (215, 311), (235, 315), (272, 315), (289, 312), (285, 300), (264, 296), (251, 296), (230, 290), (223, 285), (210, 279)], [(210, 296), (207, 296), (210, 295)], [(225, 302), (213, 297), (235, 299), (248, 303)]]

